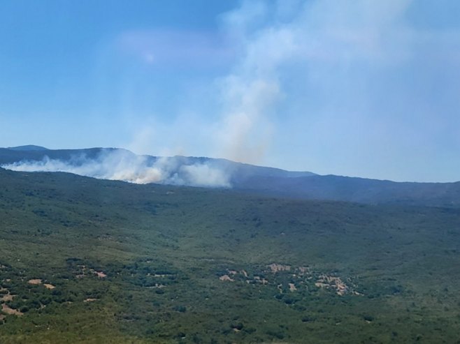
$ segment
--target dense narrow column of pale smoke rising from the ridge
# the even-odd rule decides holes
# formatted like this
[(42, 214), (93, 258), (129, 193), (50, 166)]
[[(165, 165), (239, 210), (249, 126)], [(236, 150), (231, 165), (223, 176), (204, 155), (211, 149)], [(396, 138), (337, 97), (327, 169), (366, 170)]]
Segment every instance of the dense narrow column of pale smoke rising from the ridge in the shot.
[(217, 82), (222, 112), (215, 154), (230, 160), (260, 163), (273, 141), (271, 115), (283, 98), (278, 68), (294, 46), (283, 30), (261, 28), (256, 38), (248, 33), (251, 23), (265, 17), (267, 10), (264, 2), (245, 1), (224, 16), (227, 33), (242, 43), (242, 58)]

